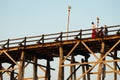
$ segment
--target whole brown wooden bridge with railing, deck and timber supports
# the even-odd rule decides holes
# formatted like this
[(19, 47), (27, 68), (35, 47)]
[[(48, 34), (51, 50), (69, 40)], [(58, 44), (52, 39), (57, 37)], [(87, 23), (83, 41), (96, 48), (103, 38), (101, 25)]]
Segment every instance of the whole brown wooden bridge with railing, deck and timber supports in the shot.
[[(85, 29), (2, 40), (0, 80), (5, 80), (5, 74), (9, 75), (7, 80), (52, 80), (51, 70), (55, 69), (50, 66), (50, 61), (54, 61), (55, 57), (59, 58), (57, 80), (105, 80), (109, 73), (118, 80), (120, 25), (107, 28), (108, 36), (96, 38), (91, 38), (91, 29)], [(81, 60), (77, 60), (78, 55), (82, 56)], [(38, 63), (43, 59), (46, 65)], [(3, 65), (5, 63), (9, 64), (7, 68)], [(28, 64), (33, 65), (31, 78), (24, 77)], [(64, 74), (65, 67), (70, 68), (67, 76)], [(38, 76), (38, 68), (43, 70), (43, 76)]]

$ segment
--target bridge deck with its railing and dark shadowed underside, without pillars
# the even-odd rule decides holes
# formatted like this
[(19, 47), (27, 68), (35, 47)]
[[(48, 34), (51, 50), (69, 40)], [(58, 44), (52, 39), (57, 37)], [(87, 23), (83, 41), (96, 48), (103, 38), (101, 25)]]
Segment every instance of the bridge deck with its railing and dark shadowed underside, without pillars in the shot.
[[(79, 42), (79, 45), (73, 51), (73, 54), (86, 56), (90, 52), (85, 48), (85, 46), (81, 42), (84, 42), (85, 44), (87, 44), (87, 46), (90, 47), (90, 49), (94, 53), (97, 53), (97, 52), (100, 52), (101, 41), (105, 42), (107, 46), (106, 50), (108, 50), (118, 40), (120, 40), (120, 35), (116, 35), (118, 27), (120, 26), (114, 26), (114, 27), (117, 27), (117, 29), (109, 31), (114, 33), (112, 33), (112, 35), (109, 35), (108, 37), (103, 37), (103, 38), (98, 37), (98, 38), (92, 39), (90, 37), (91, 29), (88, 29), (88, 30), (82, 30), (82, 33), (81, 33), (81, 30), (69, 32), (70, 35), (67, 36), (68, 40), (66, 40), (66, 36), (64, 36), (66, 34), (65, 32), (34, 36), (34, 37), (25, 37), (25, 38), (19, 38), (19, 39), (3, 40), (3, 41), (0, 41), (2, 45), (2, 48), (0, 49), (0, 51), (6, 50), (15, 61), (20, 61), (20, 55), (22, 51), (25, 52), (26, 60), (32, 60), (33, 56), (37, 56), (38, 59), (52, 60), (54, 57), (59, 57), (59, 46), (62, 46), (63, 53), (66, 56), (67, 53), (69, 53), (69, 51), (74, 47), (74, 45), (77, 42)], [(108, 28), (111, 28), (111, 26)], [(82, 36), (78, 34), (87, 35), (87, 37), (75, 39), (76, 36), (77, 37)], [(50, 37), (45, 38), (46, 36), (50, 36)], [(49, 40), (49, 41), (45, 42), (45, 40)], [(120, 45), (117, 46), (117, 49), (120, 50)], [(9, 60), (9, 58), (6, 57), (5, 54), (0, 55), (0, 62), (12, 63), (12, 61)]]

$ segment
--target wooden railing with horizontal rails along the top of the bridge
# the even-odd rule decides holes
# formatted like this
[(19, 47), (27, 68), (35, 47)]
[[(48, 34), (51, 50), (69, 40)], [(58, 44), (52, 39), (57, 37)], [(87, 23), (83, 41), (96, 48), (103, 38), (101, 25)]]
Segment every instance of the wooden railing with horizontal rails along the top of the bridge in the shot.
[[(108, 36), (116, 35), (120, 31), (120, 25), (107, 26)], [(99, 30), (100, 28), (98, 28)], [(45, 44), (56, 41), (74, 40), (74, 39), (85, 39), (91, 38), (92, 29), (80, 29), (76, 31), (60, 32), (54, 34), (43, 34), (39, 36), (30, 36), (16, 39), (8, 39), (0, 41), (0, 49), (9, 49), (11, 47), (27, 46), (33, 44)]]

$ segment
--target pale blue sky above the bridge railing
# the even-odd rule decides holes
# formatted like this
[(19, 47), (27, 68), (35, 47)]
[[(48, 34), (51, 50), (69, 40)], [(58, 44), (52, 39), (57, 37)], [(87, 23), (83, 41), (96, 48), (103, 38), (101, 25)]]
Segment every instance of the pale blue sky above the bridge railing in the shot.
[(66, 31), (68, 5), (70, 31), (120, 25), (120, 0), (0, 0), (0, 40)]

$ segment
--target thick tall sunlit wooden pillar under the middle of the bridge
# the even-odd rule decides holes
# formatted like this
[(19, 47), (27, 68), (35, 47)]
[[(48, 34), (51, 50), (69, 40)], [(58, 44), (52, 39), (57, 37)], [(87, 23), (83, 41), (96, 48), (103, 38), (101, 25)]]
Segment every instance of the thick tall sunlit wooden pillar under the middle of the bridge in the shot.
[(64, 80), (64, 67), (61, 67), (60, 65), (64, 65), (63, 62), (63, 48), (62, 46), (59, 47), (59, 74), (58, 74), (58, 80)]

